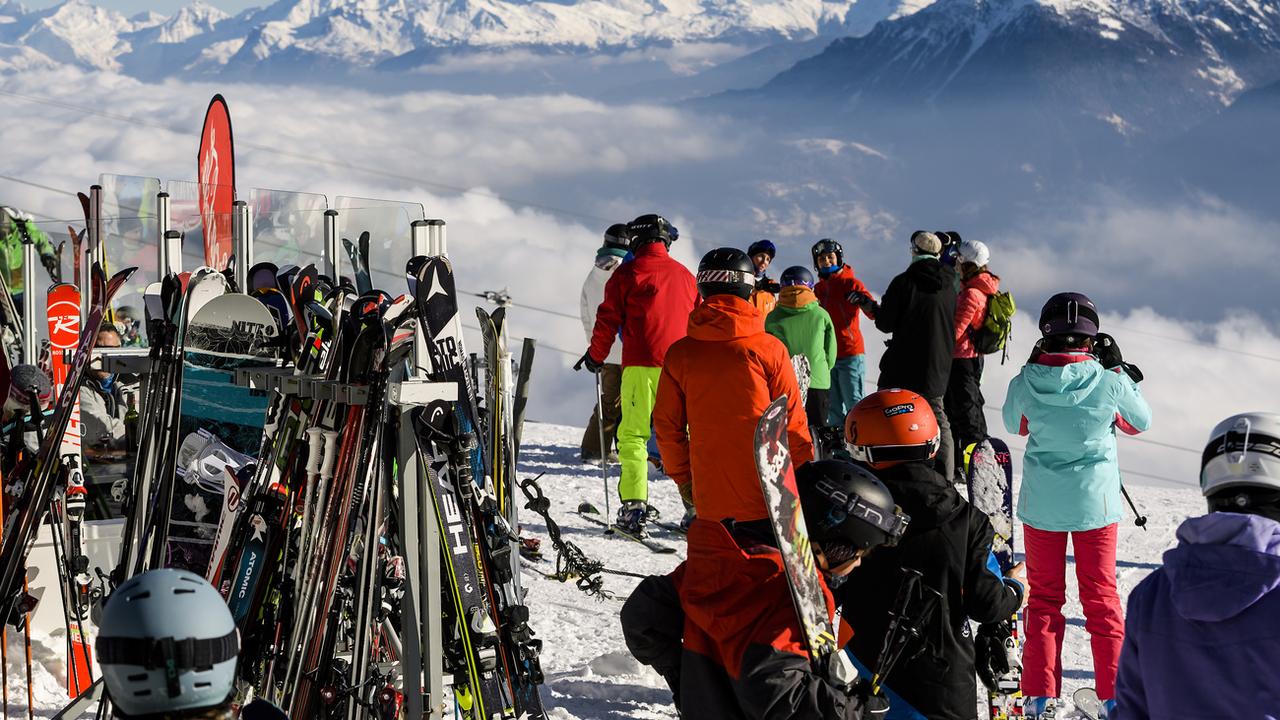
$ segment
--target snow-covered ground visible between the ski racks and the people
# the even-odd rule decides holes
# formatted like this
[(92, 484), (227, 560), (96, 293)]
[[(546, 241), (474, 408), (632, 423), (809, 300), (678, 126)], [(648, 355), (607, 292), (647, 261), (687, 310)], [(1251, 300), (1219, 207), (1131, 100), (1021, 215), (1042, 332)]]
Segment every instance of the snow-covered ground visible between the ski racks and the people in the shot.
[[(579, 462), (582, 430), (562, 425), (530, 424), (525, 430), (521, 454), (521, 477), (544, 473), (539, 484), (552, 501), (552, 518), (561, 525), (563, 537), (607, 566), (632, 573), (667, 573), (684, 557), (680, 538), (655, 532), (655, 539), (678, 548), (675, 555), (657, 555), (626, 539), (604, 537), (598, 525), (577, 516), (577, 505), (589, 501), (604, 509), (598, 466)], [(1015, 451), (1020, 454), (1020, 451)], [(617, 469), (612, 478), (616, 483)], [(650, 477), (650, 502), (664, 518), (678, 519), (680, 498), (672, 482)], [(1174, 542), (1174, 530), (1189, 515), (1202, 512), (1199, 495), (1193, 486), (1185, 488), (1137, 487), (1137, 500), (1149, 516), (1147, 530), (1132, 523), (1120, 527), (1120, 591), (1129, 591), (1160, 564), (1161, 553)], [(616, 503), (614, 503), (616, 507)], [(636, 579), (605, 574), (605, 589), (612, 600), (594, 600), (573, 584), (544, 577), (554, 571), (554, 550), (545, 536), (545, 527), (536, 516), (524, 519), (527, 532), (543, 538), (547, 560), (525, 570), (529, 605), (538, 635), (545, 643), (543, 667), (547, 687), (543, 697), (557, 720), (623, 720), (676, 717), (671, 696), (660, 676), (636, 662), (622, 642), (618, 612)], [(1069, 573), (1070, 575), (1070, 573)], [(1069, 597), (1074, 596), (1074, 578), (1068, 579)], [(1084, 616), (1078, 601), (1066, 607), (1068, 629), (1064, 650), (1065, 698), (1080, 685), (1092, 684), (1092, 661)], [(26, 715), (27, 689), (23, 669), (24, 652), (17, 634), (9, 633), (9, 712)], [(51, 717), (67, 702), (61, 689), (63, 642), (60, 630), (52, 637), (37, 633), (33, 651), (36, 715)], [(1069, 702), (1068, 702), (1069, 706)], [(983, 715), (984, 716), (984, 715)]]

